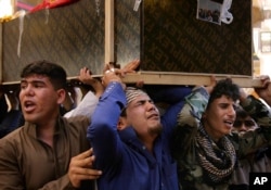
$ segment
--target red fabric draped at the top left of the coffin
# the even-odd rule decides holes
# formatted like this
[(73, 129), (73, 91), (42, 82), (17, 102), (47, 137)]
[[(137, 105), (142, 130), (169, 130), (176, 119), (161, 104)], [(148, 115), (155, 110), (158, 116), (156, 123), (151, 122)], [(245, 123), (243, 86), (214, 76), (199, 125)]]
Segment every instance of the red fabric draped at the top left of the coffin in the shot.
[(67, 5), (74, 3), (78, 0), (43, 0), (40, 4), (33, 8), (29, 12), (34, 13), (36, 11), (40, 11), (42, 9), (53, 9), (62, 5)]

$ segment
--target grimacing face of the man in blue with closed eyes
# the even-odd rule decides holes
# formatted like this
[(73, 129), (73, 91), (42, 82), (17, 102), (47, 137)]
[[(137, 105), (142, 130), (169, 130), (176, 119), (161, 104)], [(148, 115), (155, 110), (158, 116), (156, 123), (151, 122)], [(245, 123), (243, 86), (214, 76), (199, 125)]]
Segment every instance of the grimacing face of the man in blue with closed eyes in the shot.
[(147, 94), (140, 94), (131, 101), (126, 110), (127, 124), (132, 126), (140, 138), (160, 132), (160, 116), (154, 102)]

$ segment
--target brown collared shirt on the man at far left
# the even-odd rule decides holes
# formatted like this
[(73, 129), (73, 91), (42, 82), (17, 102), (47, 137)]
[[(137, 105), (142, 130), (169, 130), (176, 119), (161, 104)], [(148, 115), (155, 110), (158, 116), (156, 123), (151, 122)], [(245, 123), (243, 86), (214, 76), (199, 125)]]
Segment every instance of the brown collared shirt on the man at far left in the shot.
[[(37, 138), (36, 126), (29, 123), (0, 139), (0, 189), (75, 189), (67, 176), (69, 161), (90, 148), (89, 124), (85, 116), (60, 117), (54, 149)], [(86, 189), (93, 190), (92, 181), (86, 183)]]

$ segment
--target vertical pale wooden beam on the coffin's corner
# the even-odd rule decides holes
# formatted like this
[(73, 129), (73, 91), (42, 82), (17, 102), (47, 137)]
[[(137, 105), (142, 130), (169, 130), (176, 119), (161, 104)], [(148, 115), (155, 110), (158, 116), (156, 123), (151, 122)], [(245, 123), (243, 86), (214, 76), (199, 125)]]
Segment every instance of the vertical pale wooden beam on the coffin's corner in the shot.
[(105, 1), (105, 63), (114, 62), (114, 0)]

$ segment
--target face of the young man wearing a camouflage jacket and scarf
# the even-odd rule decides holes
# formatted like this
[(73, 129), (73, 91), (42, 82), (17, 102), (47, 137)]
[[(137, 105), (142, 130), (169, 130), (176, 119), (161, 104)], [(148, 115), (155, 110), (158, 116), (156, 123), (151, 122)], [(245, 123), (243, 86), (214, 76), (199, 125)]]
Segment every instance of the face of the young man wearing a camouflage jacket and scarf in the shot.
[(208, 135), (219, 140), (229, 135), (235, 121), (235, 102), (225, 96), (214, 100), (204, 115), (204, 127)]

